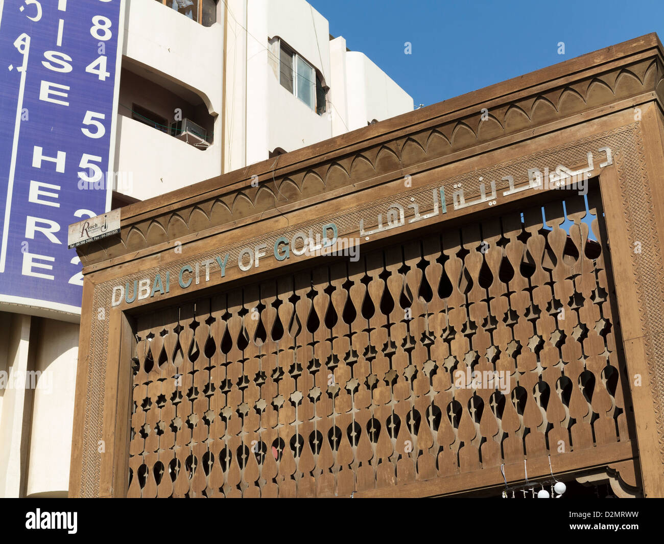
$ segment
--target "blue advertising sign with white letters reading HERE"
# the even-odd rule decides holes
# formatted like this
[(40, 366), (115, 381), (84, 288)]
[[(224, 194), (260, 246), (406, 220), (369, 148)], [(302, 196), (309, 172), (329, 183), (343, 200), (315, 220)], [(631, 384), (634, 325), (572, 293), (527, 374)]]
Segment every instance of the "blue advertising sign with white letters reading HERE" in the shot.
[(0, 6), (0, 302), (77, 314), (67, 231), (110, 209), (124, 3)]

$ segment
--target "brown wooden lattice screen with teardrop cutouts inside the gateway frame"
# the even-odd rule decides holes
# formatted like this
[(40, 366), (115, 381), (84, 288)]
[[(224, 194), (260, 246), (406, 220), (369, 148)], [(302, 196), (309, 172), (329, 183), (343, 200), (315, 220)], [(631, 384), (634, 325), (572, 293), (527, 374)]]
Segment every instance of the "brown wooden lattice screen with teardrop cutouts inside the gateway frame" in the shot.
[(139, 317), (129, 496), (350, 496), (629, 440), (599, 192), (597, 242), (558, 197)]

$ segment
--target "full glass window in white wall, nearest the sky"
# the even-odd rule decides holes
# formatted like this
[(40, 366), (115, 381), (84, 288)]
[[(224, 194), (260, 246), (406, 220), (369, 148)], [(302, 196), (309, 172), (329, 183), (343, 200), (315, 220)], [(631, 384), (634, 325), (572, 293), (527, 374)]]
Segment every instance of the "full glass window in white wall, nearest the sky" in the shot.
[(311, 110), (325, 113), (326, 89), (317, 71), (309, 62), (283, 41), (279, 42), (279, 82)]

